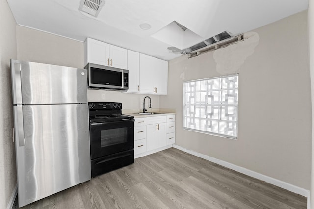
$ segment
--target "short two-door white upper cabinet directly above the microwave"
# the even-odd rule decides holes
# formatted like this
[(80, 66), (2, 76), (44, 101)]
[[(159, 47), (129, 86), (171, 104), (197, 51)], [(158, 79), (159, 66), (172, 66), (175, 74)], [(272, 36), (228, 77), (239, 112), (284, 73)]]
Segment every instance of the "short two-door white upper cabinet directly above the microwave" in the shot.
[(127, 69), (127, 50), (95, 39), (87, 38), (84, 42), (84, 64), (94, 63)]

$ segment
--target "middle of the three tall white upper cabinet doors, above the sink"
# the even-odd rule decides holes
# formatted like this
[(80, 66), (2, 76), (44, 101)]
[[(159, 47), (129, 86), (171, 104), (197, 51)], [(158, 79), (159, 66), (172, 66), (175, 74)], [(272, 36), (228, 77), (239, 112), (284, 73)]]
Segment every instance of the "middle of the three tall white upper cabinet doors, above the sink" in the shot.
[(139, 91), (154, 94), (154, 57), (145, 54), (139, 55)]

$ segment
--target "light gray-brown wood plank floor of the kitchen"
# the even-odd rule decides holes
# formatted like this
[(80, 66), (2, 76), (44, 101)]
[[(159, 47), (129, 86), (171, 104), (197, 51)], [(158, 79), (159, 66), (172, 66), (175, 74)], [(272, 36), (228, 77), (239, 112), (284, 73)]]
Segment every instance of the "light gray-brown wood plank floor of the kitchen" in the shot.
[(170, 148), (25, 209), (306, 209), (306, 198)]

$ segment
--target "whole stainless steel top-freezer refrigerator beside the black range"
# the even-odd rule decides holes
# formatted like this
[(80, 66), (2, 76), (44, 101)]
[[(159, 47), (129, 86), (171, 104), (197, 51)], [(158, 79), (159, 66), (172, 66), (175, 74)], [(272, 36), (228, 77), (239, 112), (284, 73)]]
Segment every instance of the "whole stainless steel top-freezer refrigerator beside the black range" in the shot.
[(85, 69), (10, 60), (19, 207), (91, 179)]

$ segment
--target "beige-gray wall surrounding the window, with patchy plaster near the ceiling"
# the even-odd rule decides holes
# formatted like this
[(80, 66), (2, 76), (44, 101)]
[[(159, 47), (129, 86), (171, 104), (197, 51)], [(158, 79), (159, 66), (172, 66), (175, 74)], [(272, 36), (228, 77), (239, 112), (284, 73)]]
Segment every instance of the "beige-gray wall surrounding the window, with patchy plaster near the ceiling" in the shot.
[[(254, 30), (236, 45), (169, 61), (176, 144), (310, 189), (311, 89), (307, 12)], [(183, 81), (239, 73), (238, 139), (182, 129)]]

